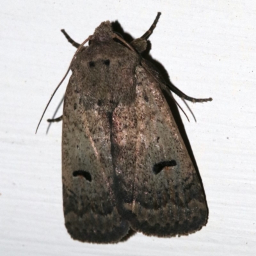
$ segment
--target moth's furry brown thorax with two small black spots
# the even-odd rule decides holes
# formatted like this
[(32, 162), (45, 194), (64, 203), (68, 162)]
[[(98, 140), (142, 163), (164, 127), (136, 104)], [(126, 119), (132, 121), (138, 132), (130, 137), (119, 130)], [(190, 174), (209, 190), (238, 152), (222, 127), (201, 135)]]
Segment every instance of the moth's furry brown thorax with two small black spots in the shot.
[(135, 100), (138, 54), (115, 42), (97, 42), (84, 54), (77, 60), (83, 72), (74, 73), (83, 84), (86, 106), (115, 108)]

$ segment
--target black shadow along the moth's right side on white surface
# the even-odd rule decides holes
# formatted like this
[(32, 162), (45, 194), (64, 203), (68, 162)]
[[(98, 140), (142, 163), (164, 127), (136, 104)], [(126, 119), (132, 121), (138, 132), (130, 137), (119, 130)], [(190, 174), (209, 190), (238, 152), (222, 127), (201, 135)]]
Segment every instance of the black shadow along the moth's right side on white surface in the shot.
[[(126, 42), (131, 43), (132, 40), (135, 39), (129, 33), (126, 33), (124, 31), (124, 29), (122, 28), (122, 26), (120, 25), (120, 23), (117, 20), (115, 22), (111, 22), (111, 24), (112, 24), (113, 30), (116, 33), (118, 33), (119, 35), (121, 35)], [(152, 44), (150, 43), (150, 40), (147, 40), (147, 42), (148, 42), (147, 49), (146, 49), (146, 51), (144, 51), (141, 54), (141, 56), (143, 58), (145, 58), (145, 60), (148, 60), (148, 61), (150, 61), (150, 63), (152, 63), (152, 65), (156, 68), (157, 72), (159, 72), (160, 76), (163, 78), (164, 83), (170, 84), (170, 85), (174, 86), (172, 81), (170, 81), (170, 77), (168, 75), (168, 72), (164, 68), (164, 66), (159, 61), (157, 61), (154, 58), (152, 58), (152, 56), (150, 55), (150, 50), (152, 48)], [(200, 183), (201, 183), (202, 189), (204, 191), (204, 186), (203, 186), (203, 183), (202, 183), (202, 178), (200, 176), (200, 173), (199, 173), (199, 170), (198, 170), (198, 166), (196, 164), (196, 160), (195, 160), (195, 157), (194, 157), (191, 145), (189, 143), (188, 136), (186, 134), (186, 130), (185, 130), (184, 124), (182, 123), (182, 119), (180, 117), (180, 113), (179, 113), (179, 109), (177, 107), (177, 104), (172, 99), (172, 97), (170, 97), (170, 95), (168, 95), (167, 93), (164, 93), (164, 96), (166, 97), (166, 100), (167, 100), (167, 102), (168, 102), (168, 104), (170, 106), (173, 118), (175, 119), (175, 122), (176, 122), (177, 127), (178, 127), (179, 132), (180, 132), (180, 135), (182, 136), (182, 139), (183, 139), (183, 141), (184, 141), (184, 143), (186, 145), (186, 148), (188, 150), (188, 154), (191, 157), (191, 161), (193, 162), (193, 164), (195, 166), (196, 173), (198, 175), (198, 178), (200, 179)], [(204, 191), (204, 196), (206, 198), (205, 191)], [(207, 206), (207, 212), (209, 212), (207, 201), (205, 201), (205, 204)]]

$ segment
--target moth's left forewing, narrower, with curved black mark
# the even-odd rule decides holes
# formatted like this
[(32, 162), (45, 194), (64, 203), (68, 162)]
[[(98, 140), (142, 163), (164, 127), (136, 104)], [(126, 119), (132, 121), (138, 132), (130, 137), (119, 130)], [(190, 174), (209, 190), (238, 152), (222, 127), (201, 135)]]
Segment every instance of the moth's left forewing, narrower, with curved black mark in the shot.
[(79, 241), (116, 243), (129, 231), (113, 195), (113, 164), (106, 113), (84, 110), (70, 78), (63, 109), (63, 207), (68, 233)]

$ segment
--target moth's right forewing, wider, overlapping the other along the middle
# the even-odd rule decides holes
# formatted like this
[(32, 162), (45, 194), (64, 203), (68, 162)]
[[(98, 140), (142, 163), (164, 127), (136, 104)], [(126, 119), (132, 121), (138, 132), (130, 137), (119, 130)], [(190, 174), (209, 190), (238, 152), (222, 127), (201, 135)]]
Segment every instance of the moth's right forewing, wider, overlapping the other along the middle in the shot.
[(202, 186), (160, 86), (143, 67), (136, 77), (136, 101), (113, 113), (118, 211), (147, 235), (195, 232), (207, 221)]

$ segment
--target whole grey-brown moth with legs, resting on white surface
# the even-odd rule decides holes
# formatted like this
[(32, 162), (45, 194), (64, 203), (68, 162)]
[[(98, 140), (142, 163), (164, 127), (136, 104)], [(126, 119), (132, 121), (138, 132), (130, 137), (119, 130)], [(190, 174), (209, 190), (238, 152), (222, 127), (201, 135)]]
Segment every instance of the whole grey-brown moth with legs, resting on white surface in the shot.
[(132, 42), (109, 21), (87, 38), (87, 47), (63, 31), (79, 48), (62, 116), (63, 209), (73, 239), (118, 243), (132, 232), (173, 237), (207, 223), (202, 184), (165, 95), (212, 99), (164, 83), (141, 57), (160, 15)]

